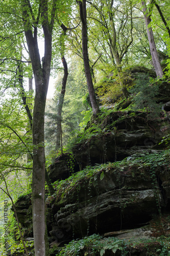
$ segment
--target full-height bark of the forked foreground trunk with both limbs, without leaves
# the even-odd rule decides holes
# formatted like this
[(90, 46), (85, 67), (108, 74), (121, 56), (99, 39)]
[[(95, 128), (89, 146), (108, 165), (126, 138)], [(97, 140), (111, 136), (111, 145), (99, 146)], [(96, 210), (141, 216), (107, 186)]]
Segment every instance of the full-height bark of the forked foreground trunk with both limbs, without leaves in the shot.
[[(22, 1), (22, 20), (35, 79), (35, 102), (33, 110), (33, 233), (35, 256), (50, 255), (46, 236), (45, 220), (45, 153), (44, 153), (44, 111), (50, 79), (52, 59), (52, 31), (54, 26), (56, 0), (53, 1), (51, 22), (48, 20), (48, 1), (40, 1), (37, 18), (34, 17), (29, 0)], [(41, 60), (37, 41), (37, 25), (41, 15), (44, 34), (44, 57)], [(32, 31), (33, 20), (34, 31)]]

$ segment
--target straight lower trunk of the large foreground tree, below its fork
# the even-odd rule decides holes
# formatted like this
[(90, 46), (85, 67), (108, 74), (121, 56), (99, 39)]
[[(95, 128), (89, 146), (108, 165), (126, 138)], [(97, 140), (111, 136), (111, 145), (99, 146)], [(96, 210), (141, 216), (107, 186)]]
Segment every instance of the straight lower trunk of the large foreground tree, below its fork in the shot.
[[(35, 78), (36, 79), (36, 78)], [(33, 114), (33, 231), (35, 255), (45, 255), (45, 154), (44, 154), (44, 111), (47, 81), (36, 79)], [(41, 90), (40, 90), (41, 88)], [(43, 89), (42, 89), (43, 88)]]

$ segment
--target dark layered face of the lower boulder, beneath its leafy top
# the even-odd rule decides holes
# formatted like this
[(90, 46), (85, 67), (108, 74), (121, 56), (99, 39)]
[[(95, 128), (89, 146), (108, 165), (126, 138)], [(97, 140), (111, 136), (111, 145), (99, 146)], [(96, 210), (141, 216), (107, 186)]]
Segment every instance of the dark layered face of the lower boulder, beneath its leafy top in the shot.
[(71, 239), (73, 234), (80, 238), (146, 225), (160, 208), (169, 208), (168, 180), (166, 168), (153, 175), (148, 167), (131, 165), (120, 170), (108, 165), (62, 203), (55, 201), (56, 234), (60, 230), (60, 236)]

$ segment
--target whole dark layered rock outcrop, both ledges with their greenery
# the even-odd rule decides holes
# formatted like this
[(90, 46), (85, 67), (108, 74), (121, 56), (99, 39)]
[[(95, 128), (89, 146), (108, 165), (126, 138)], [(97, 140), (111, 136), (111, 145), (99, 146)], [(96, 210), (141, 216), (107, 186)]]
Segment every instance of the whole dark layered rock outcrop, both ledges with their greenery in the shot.
[[(127, 102), (121, 108), (124, 106), (127, 108)], [(46, 200), (52, 246), (93, 233), (120, 236), (120, 230), (134, 228), (139, 229), (139, 236), (142, 232), (154, 235), (150, 227), (154, 216), (170, 212), (169, 154), (164, 153), (168, 144), (160, 144), (170, 126), (168, 113), (152, 119), (147, 115), (118, 110), (93, 119), (78, 138), (74, 157), (65, 154), (50, 166), (52, 182), (77, 173), (72, 180), (63, 181), (62, 187), (57, 186), (56, 193)], [(145, 160), (141, 161), (142, 157)], [(101, 163), (106, 164), (98, 165)], [(84, 169), (88, 165), (89, 172)], [(20, 198), (16, 210), (22, 226), (28, 228), (25, 236), (32, 236), (31, 195)]]

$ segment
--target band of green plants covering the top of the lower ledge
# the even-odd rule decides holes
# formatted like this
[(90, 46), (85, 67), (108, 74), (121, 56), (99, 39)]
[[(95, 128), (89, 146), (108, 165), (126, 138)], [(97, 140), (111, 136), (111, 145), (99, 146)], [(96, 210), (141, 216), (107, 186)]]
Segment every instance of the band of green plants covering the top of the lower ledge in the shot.
[[(108, 174), (112, 173), (118, 174), (117, 176), (120, 178), (126, 175), (127, 186), (129, 187), (130, 182), (128, 183), (128, 176), (130, 178), (140, 176), (143, 183), (147, 182), (148, 177), (152, 178), (158, 172), (164, 172), (169, 169), (169, 158), (169, 150), (151, 154), (143, 151), (143, 153), (135, 154), (123, 161), (87, 166), (66, 180), (54, 182), (53, 185), (55, 186), (56, 192), (53, 196), (49, 196), (46, 202), (51, 203), (55, 201), (58, 205), (62, 205), (72, 195), (78, 193), (82, 187), (88, 187), (89, 184), (95, 187), (97, 181), (102, 181)], [(117, 181), (118, 183), (119, 181)], [(119, 183), (118, 185), (120, 186), (121, 184)]]

